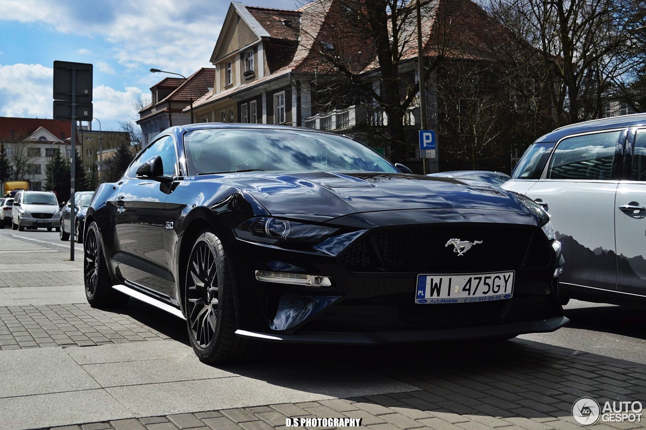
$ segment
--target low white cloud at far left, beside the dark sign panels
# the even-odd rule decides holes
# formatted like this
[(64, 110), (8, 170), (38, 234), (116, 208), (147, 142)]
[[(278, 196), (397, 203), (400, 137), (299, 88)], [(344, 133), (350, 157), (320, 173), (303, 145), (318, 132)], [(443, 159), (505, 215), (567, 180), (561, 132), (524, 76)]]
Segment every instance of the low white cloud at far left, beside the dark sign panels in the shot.
[(52, 118), (53, 74), (40, 64), (0, 65), (0, 115)]

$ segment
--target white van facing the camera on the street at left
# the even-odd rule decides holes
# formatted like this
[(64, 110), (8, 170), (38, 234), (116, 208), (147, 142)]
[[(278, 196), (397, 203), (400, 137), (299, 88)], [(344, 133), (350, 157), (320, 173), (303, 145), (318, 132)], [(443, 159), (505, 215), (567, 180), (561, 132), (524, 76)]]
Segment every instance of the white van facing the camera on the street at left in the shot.
[(52, 191), (18, 191), (14, 197), (12, 220), (14, 230), (47, 228), (59, 231), (58, 202)]

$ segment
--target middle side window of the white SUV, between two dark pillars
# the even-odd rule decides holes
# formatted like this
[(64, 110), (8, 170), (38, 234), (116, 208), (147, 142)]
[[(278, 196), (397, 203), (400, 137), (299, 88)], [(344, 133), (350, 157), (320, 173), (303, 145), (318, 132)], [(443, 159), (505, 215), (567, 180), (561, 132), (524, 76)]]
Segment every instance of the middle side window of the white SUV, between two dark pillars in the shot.
[(585, 134), (561, 140), (547, 171), (548, 179), (608, 180), (621, 131)]

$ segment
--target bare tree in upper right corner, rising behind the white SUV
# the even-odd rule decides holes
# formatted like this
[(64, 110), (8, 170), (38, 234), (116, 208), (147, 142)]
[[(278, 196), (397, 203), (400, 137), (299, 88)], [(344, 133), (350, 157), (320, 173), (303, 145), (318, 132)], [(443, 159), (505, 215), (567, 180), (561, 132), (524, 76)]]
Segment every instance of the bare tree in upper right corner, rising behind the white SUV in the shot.
[(607, 99), (627, 87), (625, 79), (644, 51), (643, 45), (636, 49), (643, 8), (638, 0), (492, 0), (488, 5), (510, 34), (540, 53), (559, 124), (603, 116)]

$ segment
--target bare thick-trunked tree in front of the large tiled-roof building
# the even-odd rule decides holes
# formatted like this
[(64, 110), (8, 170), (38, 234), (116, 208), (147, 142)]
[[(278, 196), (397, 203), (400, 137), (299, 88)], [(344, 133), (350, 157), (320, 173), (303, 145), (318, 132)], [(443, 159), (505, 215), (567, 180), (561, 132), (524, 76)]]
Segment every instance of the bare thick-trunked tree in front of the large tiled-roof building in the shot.
[[(430, 76), (448, 47), (441, 19), (434, 19), (439, 2), (422, 3), (425, 34), (431, 31), (429, 23), (437, 26), (433, 55), (426, 64)], [(307, 23), (317, 20), (320, 26), (311, 27), (316, 33), (308, 34)], [(416, 20), (415, 2), (407, 0), (317, 0), (302, 16), (301, 37), (311, 39), (311, 60), (317, 63), (314, 109), (358, 104), (376, 108), (373, 116), (382, 111), (386, 120), (377, 122), (385, 126), (390, 156), (397, 162), (407, 155), (404, 116), (419, 103)]]

